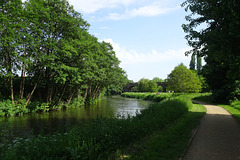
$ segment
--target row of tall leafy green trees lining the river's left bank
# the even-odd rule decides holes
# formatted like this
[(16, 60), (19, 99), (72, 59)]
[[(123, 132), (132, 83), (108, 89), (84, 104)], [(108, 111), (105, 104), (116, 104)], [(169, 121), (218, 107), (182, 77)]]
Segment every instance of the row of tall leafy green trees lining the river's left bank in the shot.
[(0, 116), (91, 102), (125, 83), (112, 46), (67, 0), (2, 0), (0, 21)]

